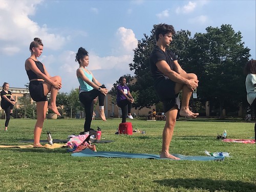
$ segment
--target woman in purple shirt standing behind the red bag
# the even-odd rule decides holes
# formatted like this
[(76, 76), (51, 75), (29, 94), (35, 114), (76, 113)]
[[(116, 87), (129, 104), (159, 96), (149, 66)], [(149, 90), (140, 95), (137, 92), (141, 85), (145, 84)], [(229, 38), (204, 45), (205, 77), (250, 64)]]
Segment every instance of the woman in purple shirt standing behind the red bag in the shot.
[(134, 98), (130, 93), (129, 87), (126, 85), (126, 78), (119, 78), (119, 85), (117, 86), (117, 105), (122, 110), (122, 123), (126, 122), (126, 116), (130, 119), (133, 119), (131, 114), (132, 103), (134, 102)]

